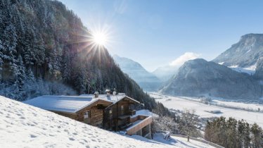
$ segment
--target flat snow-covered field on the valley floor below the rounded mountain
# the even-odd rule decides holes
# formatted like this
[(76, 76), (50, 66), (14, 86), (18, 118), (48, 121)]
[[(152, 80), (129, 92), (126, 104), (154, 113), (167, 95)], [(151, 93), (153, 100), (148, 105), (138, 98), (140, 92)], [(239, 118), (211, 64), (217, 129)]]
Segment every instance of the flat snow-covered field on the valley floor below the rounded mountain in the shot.
[[(200, 116), (200, 118), (206, 117), (220, 117), (224, 116), (226, 118), (233, 117), (238, 120), (244, 119), (248, 123), (257, 123), (263, 127), (263, 113), (253, 112), (253, 111), (243, 111), (240, 109), (229, 109), (227, 107), (211, 106), (207, 104), (194, 101), (196, 99), (191, 99), (189, 97), (170, 97), (164, 96), (157, 93), (150, 93), (151, 97), (155, 97), (156, 101), (162, 102), (168, 109), (176, 109), (183, 111), (184, 109), (195, 109), (195, 113)], [(245, 104), (240, 102), (230, 102), (230, 101), (217, 101), (219, 104), (226, 104), (229, 106), (241, 106), (250, 109), (263, 109), (262, 104)], [(209, 113), (207, 111), (219, 110), (222, 113)]]

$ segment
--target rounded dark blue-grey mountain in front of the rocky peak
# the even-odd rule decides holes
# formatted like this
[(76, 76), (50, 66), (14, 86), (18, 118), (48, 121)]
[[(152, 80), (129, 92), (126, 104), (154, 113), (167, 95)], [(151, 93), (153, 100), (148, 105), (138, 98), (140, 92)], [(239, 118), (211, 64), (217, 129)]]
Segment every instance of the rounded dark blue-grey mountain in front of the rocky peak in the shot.
[(181, 96), (210, 95), (226, 99), (262, 97), (262, 87), (250, 75), (204, 59), (184, 63), (173, 80), (160, 92)]

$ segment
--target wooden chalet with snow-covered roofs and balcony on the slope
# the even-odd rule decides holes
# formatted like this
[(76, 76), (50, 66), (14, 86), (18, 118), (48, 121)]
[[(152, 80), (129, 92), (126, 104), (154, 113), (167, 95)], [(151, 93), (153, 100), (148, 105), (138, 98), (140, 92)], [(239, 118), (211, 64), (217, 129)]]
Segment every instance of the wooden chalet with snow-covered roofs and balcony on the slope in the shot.
[(150, 138), (152, 116), (136, 114), (135, 108), (140, 102), (125, 94), (41, 96), (24, 103), (106, 130)]

